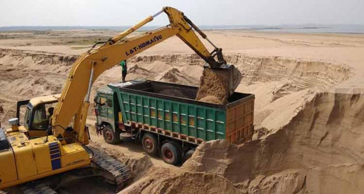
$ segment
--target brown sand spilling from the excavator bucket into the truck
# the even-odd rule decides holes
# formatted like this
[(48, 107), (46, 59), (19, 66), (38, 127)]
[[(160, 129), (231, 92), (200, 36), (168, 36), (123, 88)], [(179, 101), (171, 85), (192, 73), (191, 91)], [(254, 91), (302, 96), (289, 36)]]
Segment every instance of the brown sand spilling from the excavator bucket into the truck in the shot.
[[(227, 71), (205, 68), (200, 79), (196, 99), (203, 99), (204, 102), (212, 100), (211, 103), (225, 104), (229, 98), (228, 83), (229, 74)], [(218, 100), (208, 96), (215, 96)]]

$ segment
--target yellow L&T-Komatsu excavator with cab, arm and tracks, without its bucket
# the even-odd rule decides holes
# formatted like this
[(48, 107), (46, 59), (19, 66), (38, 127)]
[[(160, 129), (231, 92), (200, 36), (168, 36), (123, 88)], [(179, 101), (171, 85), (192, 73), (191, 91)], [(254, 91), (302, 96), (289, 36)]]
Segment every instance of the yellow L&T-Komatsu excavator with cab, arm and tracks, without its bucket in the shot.
[[(169, 17), (169, 25), (126, 37), (162, 12)], [(214, 47), (212, 52), (207, 50), (195, 32), (211, 43)], [(69, 173), (74, 169), (88, 169), (87, 173), (75, 173), (86, 175), (98, 171), (98, 175), (115, 184), (117, 190), (126, 186), (131, 180), (130, 170), (102, 151), (86, 146), (90, 138), (86, 118), (91, 86), (102, 72), (115, 64), (174, 35), (206, 61), (206, 68), (233, 74), (231, 70), (235, 70), (234, 66), (226, 64), (221, 48), (216, 47), (183, 12), (164, 7), (108, 41), (96, 43), (80, 55), (71, 68), (62, 94), (17, 103), (17, 118), (9, 119), (11, 128), (0, 130), (0, 189), (21, 185), (21, 192), (26, 194), (52, 193), (51, 187), (56, 186), (44, 185), (43, 182), (54, 177), (52, 175)], [(229, 85), (231, 90), (237, 86), (238, 78), (233, 77)], [(26, 106), (24, 124), (20, 125), (20, 107), (23, 106)], [(32, 185), (29, 182), (36, 183)], [(39, 182), (43, 185), (39, 186)]]

